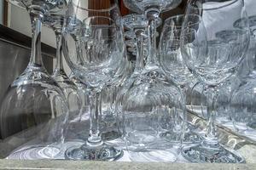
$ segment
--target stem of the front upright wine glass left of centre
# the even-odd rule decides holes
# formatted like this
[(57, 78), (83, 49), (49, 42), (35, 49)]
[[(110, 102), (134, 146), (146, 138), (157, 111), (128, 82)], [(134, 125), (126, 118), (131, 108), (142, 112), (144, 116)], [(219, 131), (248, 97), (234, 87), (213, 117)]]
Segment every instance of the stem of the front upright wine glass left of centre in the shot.
[(94, 90), (90, 95), (90, 135), (87, 139), (87, 145), (98, 146), (102, 144), (102, 137), (99, 129), (101, 116), (101, 93)]

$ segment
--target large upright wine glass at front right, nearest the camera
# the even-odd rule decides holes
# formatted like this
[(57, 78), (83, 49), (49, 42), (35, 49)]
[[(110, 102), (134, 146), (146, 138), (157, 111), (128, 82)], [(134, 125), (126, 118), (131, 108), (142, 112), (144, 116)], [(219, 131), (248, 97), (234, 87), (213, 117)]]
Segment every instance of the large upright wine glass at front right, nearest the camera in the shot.
[[(196, 15), (195, 19), (187, 17)], [(216, 14), (224, 14), (220, 19)], [(214, 16), (214, 17), (213, 17)], [(233, 22), (244, 19), (241, 28), (234, 28)], [(191, 23), (195, 23), (193, 27)], [(224, 23), (221, 25), (220, 23)], [(215, 35), (217, 31), (234, 29), (236, 38), (231, 41), (219, 41)], [(210, 114), (207, 133), (201, 144), (184, 147), (182, 154), (189, 161), (195, 162), (244, 162), (244, 159), (234, 150), (225, 148), (218, 143), (215, 127), (215, 102), (219, 87), (236, 73), (237, 67), (247, 51), (249, 30), (247, 14), (242, 0), (204, 1), (189, 0), (182, 32), (182, 55), (189, 70), (205, 84), (207, 92), (207, 113)], [(236, 50), (236, 53), (233, 53)], [(232, 54), (232, 57), (231, 55)]]

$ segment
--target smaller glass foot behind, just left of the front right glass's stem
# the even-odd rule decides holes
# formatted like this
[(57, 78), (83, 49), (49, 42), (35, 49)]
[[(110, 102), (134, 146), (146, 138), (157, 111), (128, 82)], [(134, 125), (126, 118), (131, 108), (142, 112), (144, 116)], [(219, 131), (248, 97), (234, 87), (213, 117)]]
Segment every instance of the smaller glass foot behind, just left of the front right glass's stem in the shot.
[[(181, 133), (169, 131), (166, 133), (161, 133), (160, 137), (166, 139), (169, 142), (179, 143), (181, 142), (182, 135)], [(199, 134), (193, 132), (184, 133), (183, 144), (199, 144), (200, 142), (201, 136)]]

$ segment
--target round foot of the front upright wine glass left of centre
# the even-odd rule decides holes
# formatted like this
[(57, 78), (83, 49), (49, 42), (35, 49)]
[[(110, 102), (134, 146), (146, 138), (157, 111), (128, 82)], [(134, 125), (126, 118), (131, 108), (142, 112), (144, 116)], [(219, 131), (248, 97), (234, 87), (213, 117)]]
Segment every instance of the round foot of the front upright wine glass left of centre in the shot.
[(89, 146), (83, 144), (78, 147), (71, 147), (66, 150), (65, 158), (69, 160), (93, 160), (93, 161), (113, 161), (123, 155), (122, 150), (102, 144), (100, 146)]

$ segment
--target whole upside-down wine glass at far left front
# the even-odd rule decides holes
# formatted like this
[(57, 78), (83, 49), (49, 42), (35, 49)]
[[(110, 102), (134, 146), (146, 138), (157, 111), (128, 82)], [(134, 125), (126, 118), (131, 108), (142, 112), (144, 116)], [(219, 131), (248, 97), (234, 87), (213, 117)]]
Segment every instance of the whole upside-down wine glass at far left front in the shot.
[(3, 138), (14, 135), (26, 144), (14, 153), (19, 159), (27, 155), (32, 156), (30, 159), (54, 158), (64, 142), (68, 108), (61, 88), (42, 62), (41, 25), (44, 15), (65, 13), (67, 1), (17, 2), (26, 7), (32, 20), (32, 53), (26, 70), (10, 84), (4, 96), (1, 133)]

